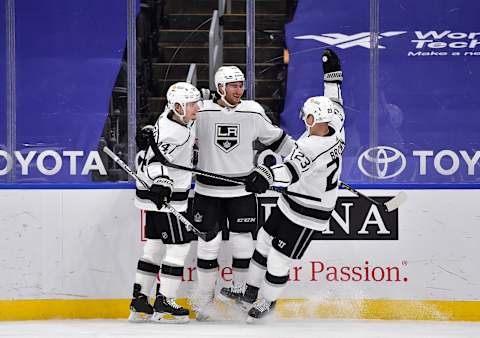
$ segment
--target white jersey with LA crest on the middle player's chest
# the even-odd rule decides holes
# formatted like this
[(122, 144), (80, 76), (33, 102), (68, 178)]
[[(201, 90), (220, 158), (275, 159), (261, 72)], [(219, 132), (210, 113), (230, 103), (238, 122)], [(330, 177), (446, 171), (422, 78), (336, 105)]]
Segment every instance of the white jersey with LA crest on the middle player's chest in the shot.
[[(197, 117), (197, 135), (197, 167), (229, 177), (244, 177), (253, 170), (253, 141), (256, 139), (283, 156), (294, 146), (294, 141), (271, 123), (263, 108), (248, 100), (235, 108), (224, 108), (212, 100), (204, 101)], [(243, 185), (202, 176), (197, 176), (195, 191), (214, 197), (250, 194)]]

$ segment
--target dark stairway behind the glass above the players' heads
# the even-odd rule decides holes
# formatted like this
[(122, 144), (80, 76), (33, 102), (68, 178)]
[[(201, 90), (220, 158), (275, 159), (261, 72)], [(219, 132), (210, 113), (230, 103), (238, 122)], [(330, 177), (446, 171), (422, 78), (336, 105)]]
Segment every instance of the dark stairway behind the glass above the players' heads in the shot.
[[(256, 0), (255, 96), (274, 120), (283, 109), (283, 26), (288, 0)], [(223, 16), (224, 64), (246, 65), (246, 1), (231, 0), (231, 13)], [(197, 86), (208, 88), (208, 21), (218, 0), (164, 0), (157, 34), (158, 55), (151, 64), (149, 110), (163, 111), (165, 93), (177, 81), (184, 81), (191, 63), (197, 64)], [(197, 29), (197, 30), (196, 30)], [(194, 31), (196, 30), (196, 31)], [(168, 73), (167, 73), (168, 72)]]

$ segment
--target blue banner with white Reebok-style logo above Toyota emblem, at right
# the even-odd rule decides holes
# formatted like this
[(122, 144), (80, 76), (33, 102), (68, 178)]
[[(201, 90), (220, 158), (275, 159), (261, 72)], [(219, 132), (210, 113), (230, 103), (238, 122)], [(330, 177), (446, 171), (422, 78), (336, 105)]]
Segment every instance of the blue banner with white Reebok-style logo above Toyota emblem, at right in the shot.
[(370, 46), (370, 1), (299, 1), (286, 27), (289, 73), (282, 126), (323, 93), (321, 54), (344, 70), (343, 179), (357, 183), (480, 183), (480, 4), (380, 1)]

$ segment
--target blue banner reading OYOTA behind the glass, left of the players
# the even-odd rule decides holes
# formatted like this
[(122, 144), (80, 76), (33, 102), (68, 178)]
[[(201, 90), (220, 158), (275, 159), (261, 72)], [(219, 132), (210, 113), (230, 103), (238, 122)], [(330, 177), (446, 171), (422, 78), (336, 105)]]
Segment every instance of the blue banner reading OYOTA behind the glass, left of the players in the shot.
[(9, 167), (15, 182), (91, 181), (103, 169), (96, 148), (126, 46), (127, 0), (15, 6), (16, 152), (0, 156), (0, 182)]

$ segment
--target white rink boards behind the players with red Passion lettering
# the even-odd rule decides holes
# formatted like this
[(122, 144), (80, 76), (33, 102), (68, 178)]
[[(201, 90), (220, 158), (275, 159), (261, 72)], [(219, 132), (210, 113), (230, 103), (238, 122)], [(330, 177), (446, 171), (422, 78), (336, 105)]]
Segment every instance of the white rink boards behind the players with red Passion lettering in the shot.
[[(406, 192), (398, 240), (313, 241), (304, 259), (295, 263), (283, 297), (480, 300), (480, 191)], [(134, 193), (1, 190), (0, 299), (129, 298), (142, 252), (141, 214), (133, 206)], [(351, 196), (344, 190), (341, 195)], [(223, 245), (220, 263), (225, 266), (230, 257), (228, 243)], [(191, 270), (194, 248), (195, 244), (187, 260)], [(222, 271), (231, 278), (228, 267)], [(185, 279), (194, 280), (194, 272), (191, 277), (186, 269)], [(194, 282), (183, 284), (188, 295)]]

